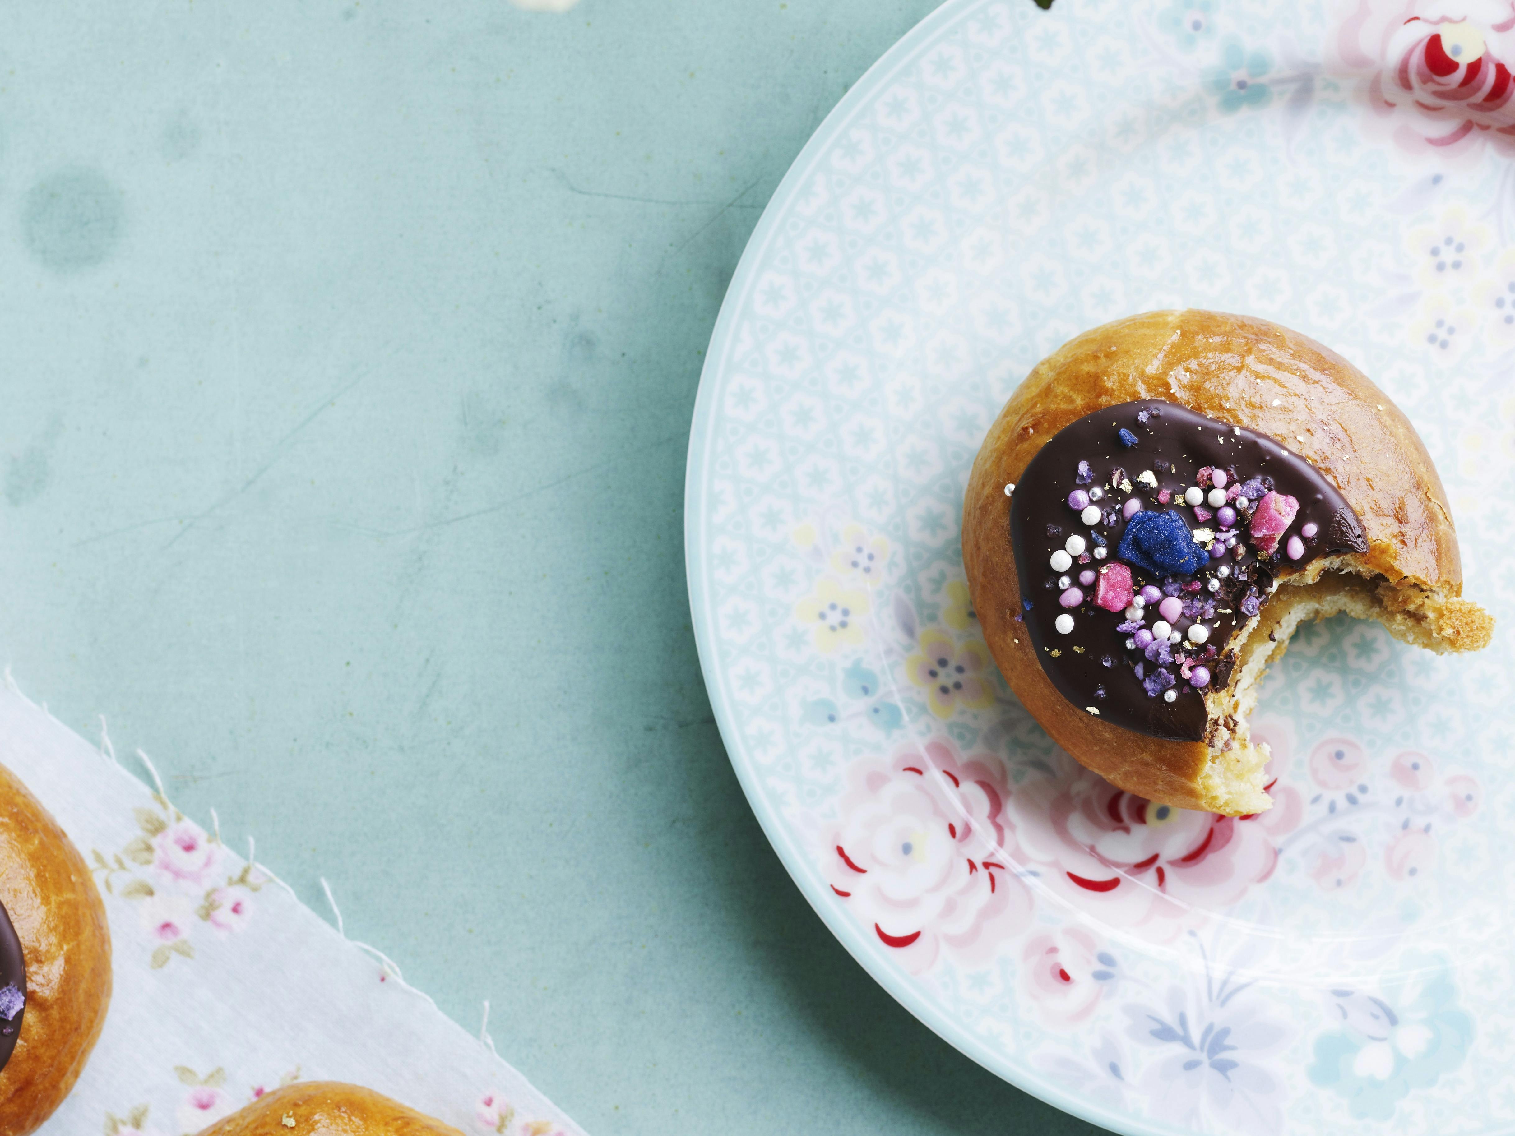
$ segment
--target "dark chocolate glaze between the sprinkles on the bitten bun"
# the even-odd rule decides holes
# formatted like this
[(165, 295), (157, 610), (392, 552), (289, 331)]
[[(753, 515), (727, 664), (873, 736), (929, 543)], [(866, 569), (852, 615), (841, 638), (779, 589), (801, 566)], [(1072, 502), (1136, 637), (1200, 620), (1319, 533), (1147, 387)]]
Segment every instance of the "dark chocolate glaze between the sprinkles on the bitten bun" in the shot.
[[(1123, 444), (1120, 436), (1123, 430), (1135, 435), (1135, 445)], [(1077, 482), (1080, 460), (1088, 462), (1092, 473), (1092, 479), (1083, 485)], [(1215, 603), (1212, 618), (1201, 615), (1201, 621), (1210, 629), (1206, 644), (1192, 647), (1185, 638), (1179, 647), (1171, 648), (1176, 656), (1182, 648), (1195, 665), (1204, 665), (1210, 671), (1207, 692), (1214, 692), (1230, 680), (1236, 662), (1235, 650), (1239, 645), (1232, 639), (1250, 619), (1242, 610), (1242, 601), (1251, 589), (1256, 589), (1259, 606), (1265, 604), (1277, 577), (1289, 576), (1320, 556), (1362, 553), (1368, 548), (1357, 513), (1341, 491), (1309, 460), (1276, 438), (1218, 423), (1176, 403), (1121, 403), (1059, 430), (1026, 467), (1009, 501), (1011, 542), (1023, 597), (1021, 619), (1053, 686), (1079, 709), (1097, 709), (1100, 718), (1112, 726), (1154, 738), (1191, 742), (1204, 741), (1207, 710), (1204, 695), (1177, 677), (1177, 657), (1167, 668), (1177, 679), (1173, 686), (1177, 698), (1168, 703), (1160, 692), (1148, 695), (1136, 677), (1135, 663), (1144, 663), (1144, 673), (1148, 676), (1156, 666), (1145, 662), (1139, 650), (1127, 648), (1126, 642), (1132, 632), (1117, 630), (1126, 623), (1126, 616), (1121, 612), (1097, 607), (1094, 588), (1082, 589), (1085, 598), (1079, 607), (1064, 609), (1059, 604), (1060, 574), (1051, 570), (1050, 560), (1070, 536), (1079, 535), (1088, 542), (1088, 550), (1083, 557), (1074, 557), (1073, 566), (1062, 573), (1071, 576), (1076, 586), (1080, 571), (1097, 573), (1103, 565), (1118, 562), (1117, 548), (1126, 530), (1123, 506), (1132, 497), (1141, 498), (1144, 509), (1177, 510), (1191, 529), (1220, 532), (1215, 520), (1197, 518), (1195, 510), (1183, 504), (1182, 497), (1170, 503), (1160, 503), (1157, 497), (1164, 489), (1179, 494), (1195, 485), (1198, 471), (1206, 467), (1226, 470), (1227, 488), (1262, 480), (1267, 489), (1295, 497), (1300, 503), (1298, 515), (1271, 556), (1259, 559), (1253, 547), (1250, 536), (1253, 512), (1248, 507), (1233, 526), (1238, 547), (1223, 559), (1209, 560), (1194, 576), (1153, 577), (1130, 565), (1138, 591), (1148, 583), (1159, 588), (1177, 583), (1182, 588), (1198, 582), (1198, 591), (1183, 591), (1180, 598)], [(1154, 488), (1138, 482), (1138, 476), (1144, 471), (1156, 476)], [(1123, 480), (1130, 482), (1129, 489), (1121, 488)], [(1079, 512), (1068, 506), (1068, 494), (1073, 489), (1088, 491), (1094, 486), (1100, 486), (1104, 492), (1103, 498), (1095, 501), (1103, 510), (1103, 518), (1100, 524), (1089, 527), (1082, 523)], [(1256, 506), (1256, 501), (1250, 501), (1250, 506)], [(1207, 504), (1201, 507), (1209, 509)], [(1306, 524), (1318, 526), (1317, 535), (1310, 539), (1301, 535)], [(1291, 560), (1285, 550), (1289, 536), (1295, 535), (1304, 539), (1306, 548), (1298, 560)], [(1103, 560), (1092, 556), (1100, 544), (1109, 550)], [(1238, 551), (1242, 554), (1238, 556)], [(1227, 565), (1230, 570), (1224, 579), (1217, 573), (1220, 565)], [(1217, 592), (1207, 589), (1212, 577), (1221, 583)], [(1054, 621), (1065, 610), (1073, 616), (1074, 627), (1071, 633), (1060, 635)], [(1153, 610), (1147, 626), (1150, 627), (1156, 618)], [(1180, 616), (1173, 623), (1173, 630), (1186, 635), (1192, 623), (1195, 619)]]

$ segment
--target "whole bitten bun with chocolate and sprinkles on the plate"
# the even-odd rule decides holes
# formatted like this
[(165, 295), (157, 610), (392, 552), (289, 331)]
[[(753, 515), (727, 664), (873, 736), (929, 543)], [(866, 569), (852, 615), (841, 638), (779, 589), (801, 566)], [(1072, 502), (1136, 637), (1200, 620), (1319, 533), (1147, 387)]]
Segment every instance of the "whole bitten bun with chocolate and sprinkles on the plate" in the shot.
[(1404, 415), (1286, 327), (1148, 312), (1038, 364), (964, 500), (974, 609), (1079, 762), (1185, 809), (1268, 809), (1247, 716), (1294, 629), (1341, 612), (1485, 647), (1447, 494)]

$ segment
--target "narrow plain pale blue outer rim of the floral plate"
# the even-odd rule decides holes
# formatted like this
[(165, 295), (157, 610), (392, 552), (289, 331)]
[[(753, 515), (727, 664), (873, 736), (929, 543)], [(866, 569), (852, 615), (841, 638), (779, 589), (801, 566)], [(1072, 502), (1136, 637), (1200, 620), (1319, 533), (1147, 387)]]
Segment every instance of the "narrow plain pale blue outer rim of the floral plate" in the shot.
[[(1023, 2), (1030, 3), (1030, 0)], [(711, 619), (711, 598), (708, 594), (709, 577), (704, 570), (704, 554), (708, 548), (703, 506), (704, 488), (711, 473), (711, 462), (714, 459), (711, 441), (712, 427), (715, 426), (717, 418), (715, 386), (718, 382), (718, 373), (724, 370), (727, 348), (735, 333), (736, 315), (733, 309), (736, 304), (733, 303), (733, 297), (744, 295), (747, 288), (751, 285), (754, 265), (762, 259), (762, 250), (774, 236), (779, 217), (783, 214), (789, 198), (795, 195), (804, 177), (814, 171), (827, 147), (841, 133), (841, 130), (850, 124), (857, 111), (862, 109), (862, 103), (865, 103), (870, 94), (882, 83), (885, 76), (892, 74), (895, 65), (903, 59), (903, 56), (918, 51), (929, 44), (935, 32), (956, 23), (982, 6), (982, 0), (947, 0), (947, 3), (906, 32), (906, 35), (901, 36), (894, 47), (885, 51), (883, 56), (880, 56), (879, 61), (864, 73), (864, 76), (845, 95), (842, 95), (841, 101), (826, 117), (820, 129), (817, 129), (817, 132), (811, 136), (811, 141), (804, 144), (804, 148), (800, 150), (798, 158), (795, 158), (794, 164), (783, 176), (783, 180), (779, 182), (779, 188), (770, 198), (768, 206), (764, 209), (764, 214), (747, 242), (747, 248), (742, 251), (742, 257), (736, 265), (736, 273), (732, 276), (732, 282), (727, 286), (726, 301), (723, 301), (720, 315), (715, 320), (715, 330), (711, 335), (711, 345), (706, 350), (704, 367), (700, 373), (700, 388), (695, 394), (694, 418), (689, 427), (689, 453), (688, 465), (685, 468), (683, 492), (683, 536), (685, 573), (688, 576), (689, 586), (689, 612), (694, 624), (694, 639), (700, 654), (700, 669), (704, 673), (706, 692), (711, 698), (711, 710), (715, 715), (715, 724), (721, 732), (721, 741), (730, 756), (732, 768), (736, 771), (736, 780), (741, 783), (742, 792), (747, 794), (747, 801), (751, 806), (753, 813), (758, 816), (758, 824), (762, 825), (764, 835), (779, 854), (785, 869), (788, 869), (795, 885), (798, 885), (806, 901), (815, 909), (815, 913), (821, 916), (821, 922), (826, 924), (832, 935), (835, 935), (842, 947), (847, 948), (847, 953), (851, 954), (859, 965), (862, 965), (873, 980), (945, 1042), (1023, 1092), (1027, 1092), (1032, 1097), (1060, 1109), (1062, 1112), (1089, 1121), (1091, 1124), (1098, 1124), (1104, 1128), (1121, 1133), (1121, 1136), (1173, 1136), (1176, 1133), (1182, 1133), (1183, 1130), (1168, 1124), (1154, 1122), (1142, 1116), (1118, 1113), (1092, 1104), (1085, 1098), (1067, 1092), (1064, 1088), (1050, 1080), (1047, 1074), (1032, 1068), (1030, 1065), (1011, 1060), (1004, 1054), (989, 1048), (962, 1022), (954, 1021), (951, 1016), (935, 1007), (923, 995), (923, 992), (917, 989), (914, 978), (880, 957), (879, 951), (874, 950), (873, 941), (868, 939), (841, 909), (827, 903), (830, 891), (829, 886), (821, 879), (815, 863), (811, 862), (811, 859), (804, 854), (804, 850), (795, 842), (794, 833), (785, 824), (783, 818), (768, 806), (768, 801), (758, 785), (753, 759), (747, 753), (741, 735), (736, 730), (729, 704), (729, 694), (726, 691), (723, 676), (715, 665), (715, 629), (712, 627)]]

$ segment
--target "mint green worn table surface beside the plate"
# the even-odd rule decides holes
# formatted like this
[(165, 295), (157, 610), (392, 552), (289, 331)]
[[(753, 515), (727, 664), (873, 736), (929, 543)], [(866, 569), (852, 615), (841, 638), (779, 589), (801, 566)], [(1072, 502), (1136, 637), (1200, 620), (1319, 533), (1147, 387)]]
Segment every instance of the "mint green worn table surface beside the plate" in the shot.
[(824, 930), (689, 630), (723, 291), (932, 6), (50, 3), (0, 42), (5, 659), (489, 998), (597, 1136), (1089, 1131)]

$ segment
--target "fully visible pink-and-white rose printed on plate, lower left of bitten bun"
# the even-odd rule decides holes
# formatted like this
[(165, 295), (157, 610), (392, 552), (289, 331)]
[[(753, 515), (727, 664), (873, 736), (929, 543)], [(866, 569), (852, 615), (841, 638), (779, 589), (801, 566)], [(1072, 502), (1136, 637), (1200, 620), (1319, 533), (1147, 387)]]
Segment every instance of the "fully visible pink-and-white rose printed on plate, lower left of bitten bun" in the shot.
[(994, 954), (1026, 925), (1030, 894), (1006, 853), (998, 759), (945, 741), (848, 769), (823, 865), (832, 891), (912, 972), (941, 951)]

